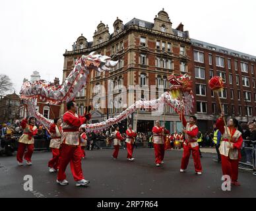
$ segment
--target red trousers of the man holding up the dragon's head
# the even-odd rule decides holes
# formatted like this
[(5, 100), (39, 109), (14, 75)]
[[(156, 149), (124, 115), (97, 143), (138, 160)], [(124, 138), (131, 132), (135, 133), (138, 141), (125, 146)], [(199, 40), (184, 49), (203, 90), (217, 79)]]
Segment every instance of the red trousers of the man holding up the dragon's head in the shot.
[(187, 169), (187, 165), (189, 164), (189, 157), (192, 151), (192, 156), (194, 160), (194, 166), (196, 172), (202, 172), (200, 154), (199, 154), (199, 146), (191, 147), (189, 143), (183, 145), (184, 151), (181, 160), (181, 169)]

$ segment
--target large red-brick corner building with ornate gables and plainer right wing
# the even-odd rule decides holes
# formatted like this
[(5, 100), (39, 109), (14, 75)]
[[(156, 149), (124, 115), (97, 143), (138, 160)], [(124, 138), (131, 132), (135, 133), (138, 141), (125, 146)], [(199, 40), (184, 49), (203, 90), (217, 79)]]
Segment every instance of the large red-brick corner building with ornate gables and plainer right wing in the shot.
[[(63, 80), (73, 70), (79, 57), (92, 51), (108, 55), (113, 60), (119, 60), (118, 65), (110, 72), (92, 72), (89, 75), (90, 82), (77, 94), (76, 101), (80, 115), (84, 112), (85, 106), (93, 104), (93, 102), (94, 105), (96, 104), (96, 110), (92, 113), (92, 123), (117, 115), (133, 104), (135, 99), (150, 100), (158, 98), (162, 92), (168, 91), (168, 75), (173, 73), (175, 75), (189, 73), (192, 76), (197, 100), (195, 115), (200, 119), (199, 126), (202, 127), (202, 131), (212, 127), (212, 119), (216, 118), (216, 114), (218, 114), (218, 106), (216, 104), (213, 106), (216, 103), (215, 98), (211, 97), (210, 90), (207, 87), (210, 74), (216, 75), (218, 73), (222, 75), (226, 73), (228, 87), (227, 93), (224, 93), (226, 98), (224, 98), (223, 102), (227, 115), (230, 114), (228, 113), (230, 111), (229, 105), (234, 106), (236, 113), (241, 109), (241, 115), (237, 115), (241, 121), (246, 119), (246, 105), (247, 107), (251, 106), (251, 114), (256, 115), (255, 106), (253, 107), (256, 96), (252, 87), (253, 83), (255, 84), (255, 76), (251, 72), (251, 67), (255, 67), (255, 61), (253, 61), (255, 57), (189, 38), (189, 32), (183, 30), (183, 24), (179, 24), (176, 28), (172, 27), (172, 22), (164, 9), (155, 16), (154, 22), (133, 18), (123, 24), (122, 20), (117, 18), (113, 22), (112, 34), (110, 34), (109, 26), (100, 22), (94, 32), (92, 42), (88, 42), (81, 35), (77, 38), (77, 42), (73, 44), (72, 51), (66, 50), (63, 54), (65, 57)], [(197, 55), (199, 59), (197, 59)], [(212, 65), (208, 63), (209, 55), (212, 55)], [(204, 58), (203, 62), (200, 62), (201, 57)], [(224, 67), (222, 67), (222, 58), (224, 58)], [(228, 59), (231, 59), (231, 63)], [(216, 64), (216, 61), (218, 64)], [(236, 64), (235, 61), (238, 61), (238, 63)], [(232, 65), (231, 69), (228, 68), (229, 63)], [(238, 71), (235, 70), (235, 65), (238, 66)], [(248, 68), (249, 73), (241, 72), (241, 67)], [(201, 71), (203, 72), (202, 75), (205, 74), (205, 78), (200, 75)], [(232, 72), (232, 84), (229, 84), (228, 72)], [(237, 75), (240, 80), (239, 88), (235, 87)], [(243, 82), (246, 81), (245, 83), (247, 83), (247, 79), (242, 79), (242, 76), (249, 78), (249, 87), (241, 86)], [(150, 88), (152, 85), (156, 86), (156, 96), (153, 95), (154, 92)], [(102, 86), (106, 92), (102, 92)], [(205, 94), (202, 93), (204, 88)], [(234, 100), (228, 100), (232, 88)], [(113, 92), (110, 92), (110, 90), (113, 90)], [(238, 101), (238, 90), (240, 90), (241, 99), (239, 105), (235, 103)], [(251, 92), (251, 102), (247, 100), (248, 102), (245, 104), (243, 92), (249, 90)], [(222, 93), (222, 96), (224, 94)], [(246, 94), (246, 96), (248, 97), (249, 94)], [(121, 107), (118, 107), (119, 105)], [(108, 108), (102, 108), (104, 106)], [(212, 107), (215, 109), (214, 113), (212, 113)], [(250, 111), (250, 108), (248, 109)], [(65, 106), (62, 105), (61, 113), (64, 111)], [(156, 119), (164, 121), (164, 115), (153, 116), (146, 109), (141, 109), (138, 117), (137, 112), (135, 112), (130, 118), (134, 126), (136, 119), (138, 119), (137, 131), (151, 130)], [(166, 108), (165, 120), (166, 127), (171, 132), (181, 131), (179, 117), (170, 107)]]

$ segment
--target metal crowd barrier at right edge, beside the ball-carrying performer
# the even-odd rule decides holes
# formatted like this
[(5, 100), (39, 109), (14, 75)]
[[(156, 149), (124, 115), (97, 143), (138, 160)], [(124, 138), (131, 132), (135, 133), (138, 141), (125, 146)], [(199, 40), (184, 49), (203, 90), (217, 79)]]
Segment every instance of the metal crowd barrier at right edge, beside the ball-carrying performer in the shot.
[(239, 167), (246, 170), (254, 170), (255, 167), (255, 144), (252, 144), (250, 140), (243, 140), (241, 148), (241, 160)]

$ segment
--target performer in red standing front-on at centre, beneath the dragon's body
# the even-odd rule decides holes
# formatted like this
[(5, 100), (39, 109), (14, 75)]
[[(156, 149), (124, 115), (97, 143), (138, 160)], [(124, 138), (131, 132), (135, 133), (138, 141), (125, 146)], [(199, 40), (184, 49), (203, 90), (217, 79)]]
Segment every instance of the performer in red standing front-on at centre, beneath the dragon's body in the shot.
[(156, 166), (164, 164), (164, 129), (160, 127), (160, 122), (156, 121), (156, 126), (152, 128), (154, 156)]

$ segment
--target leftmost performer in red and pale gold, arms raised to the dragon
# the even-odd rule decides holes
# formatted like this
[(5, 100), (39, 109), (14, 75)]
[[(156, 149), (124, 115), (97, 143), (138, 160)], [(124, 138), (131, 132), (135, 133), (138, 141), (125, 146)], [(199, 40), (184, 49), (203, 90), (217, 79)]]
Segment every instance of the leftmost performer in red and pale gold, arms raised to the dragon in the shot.
[(34, 135), (38, 133), (38, 128), (35, 124), (35, 117), (29, 117), (28, 120), (23, 119), (20, 123), (20, 126), (23, 129), (23, 135), (20, 136), (20, 139), (18, 140), (18, 152), (16, 155), (18, 166), (23, 166), (22, 162), (26, 148), (27, 152), (25, 153), (24, 159), (26, 160), (26, 164), (28, 164), (28, 166), (32, 165), (31, 157), (34, 151)]

